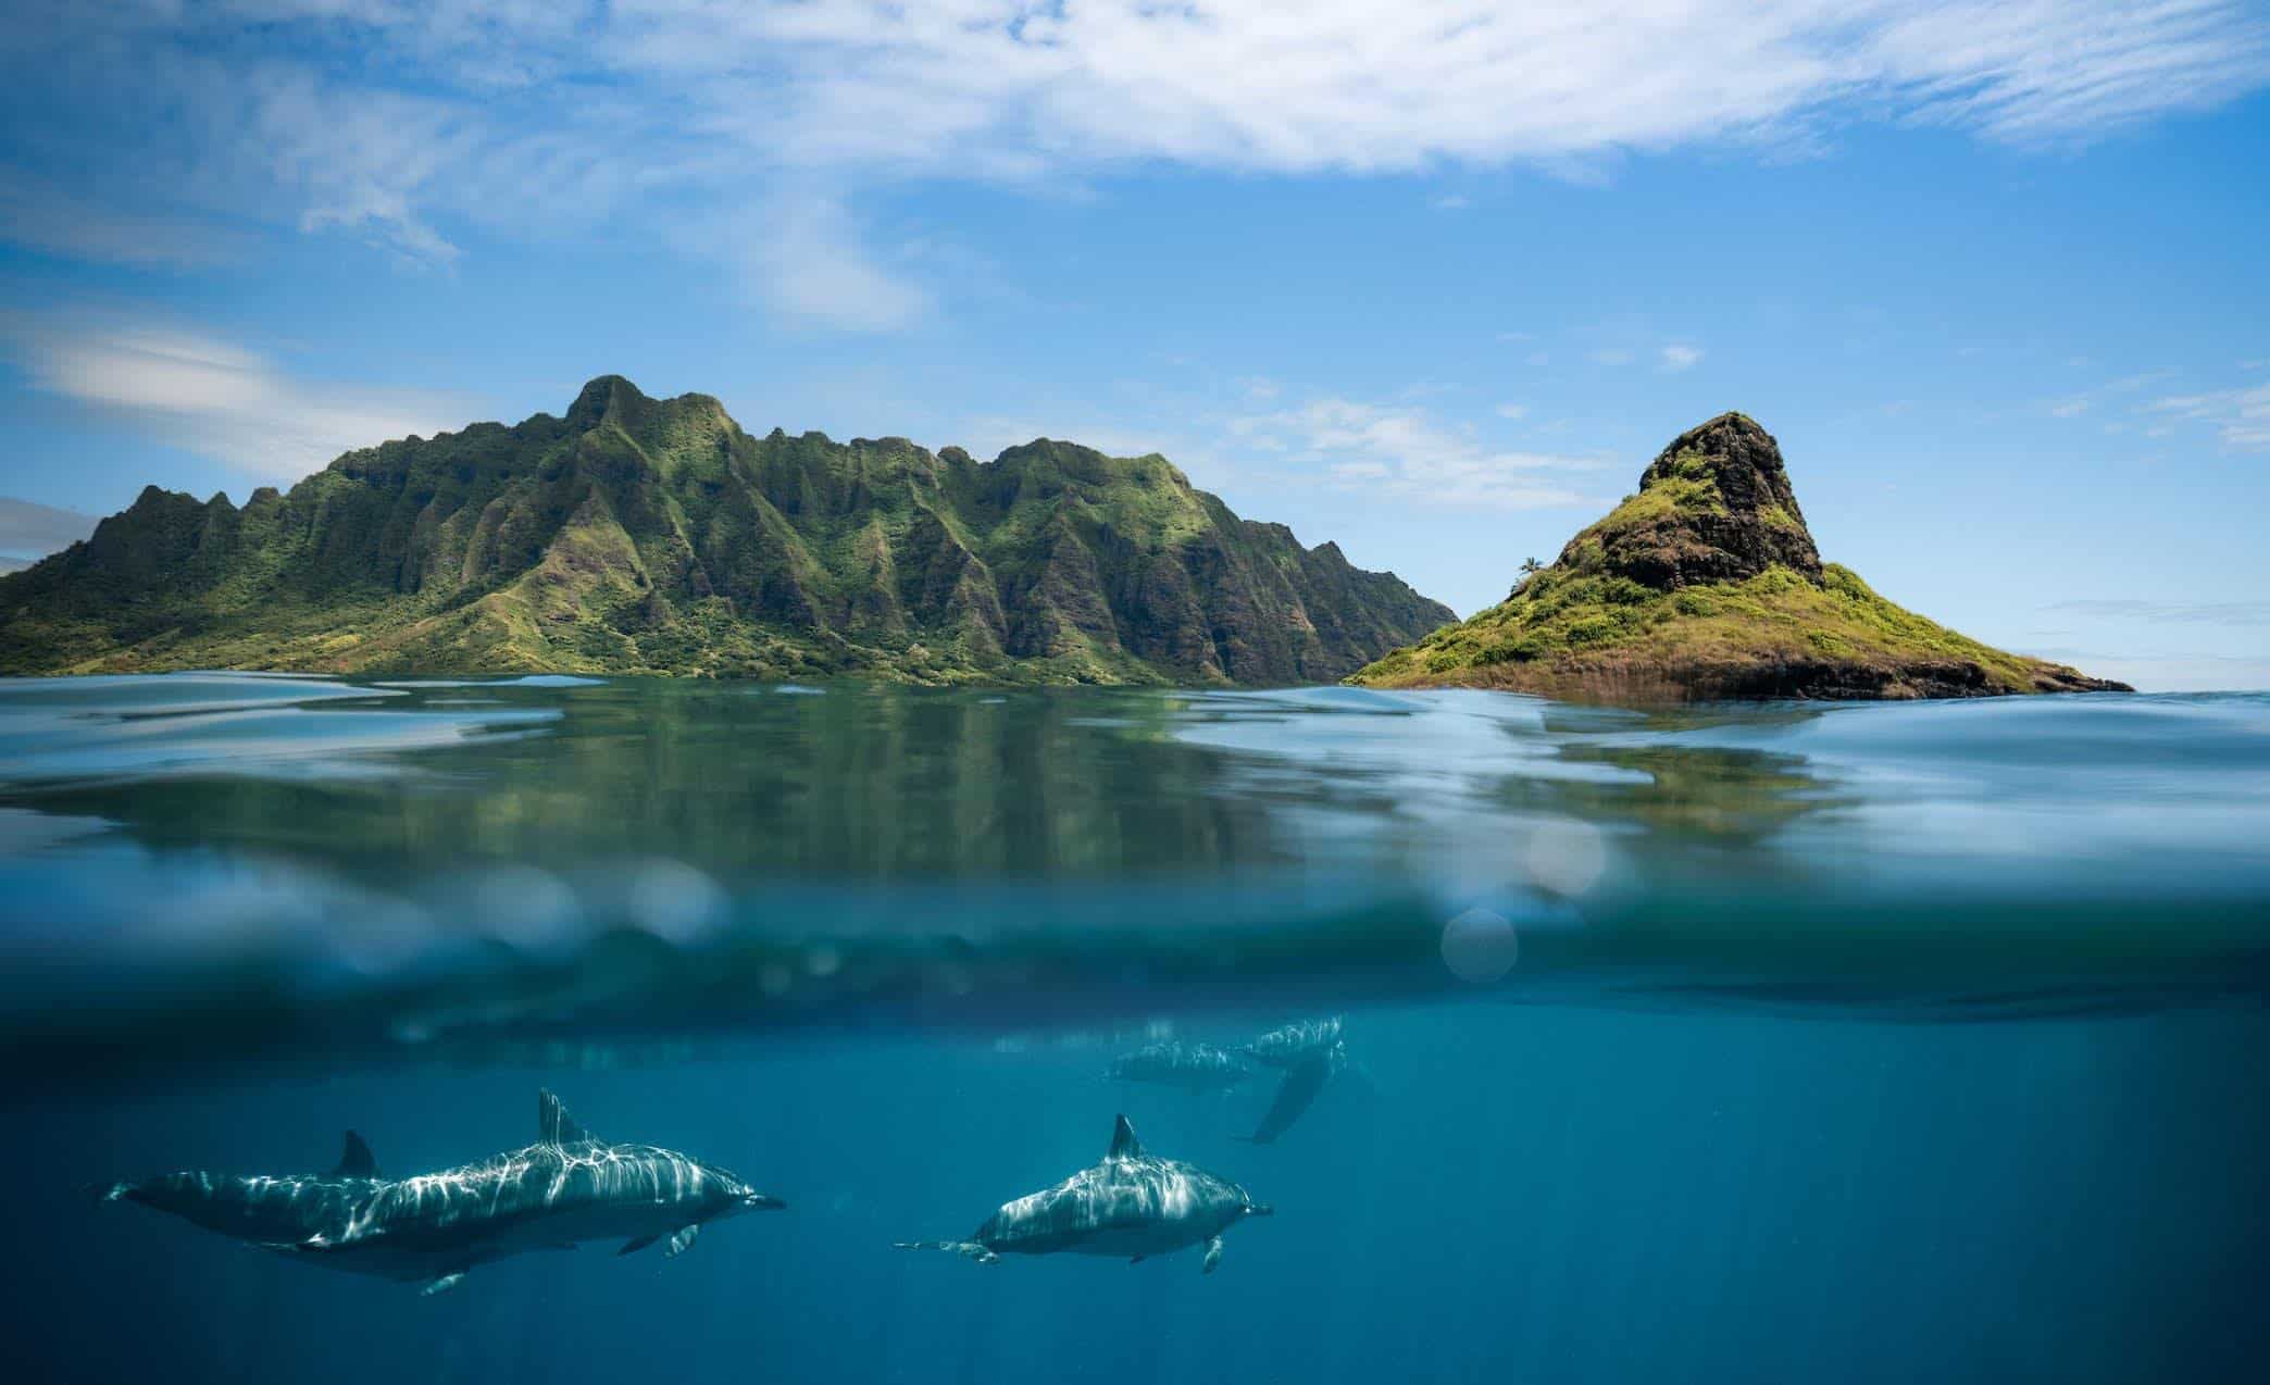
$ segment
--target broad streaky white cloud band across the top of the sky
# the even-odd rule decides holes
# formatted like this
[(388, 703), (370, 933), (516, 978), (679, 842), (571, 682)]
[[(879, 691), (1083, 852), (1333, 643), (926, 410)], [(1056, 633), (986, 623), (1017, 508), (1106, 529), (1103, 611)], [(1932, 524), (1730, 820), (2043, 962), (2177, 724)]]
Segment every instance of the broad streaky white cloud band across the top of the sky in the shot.
[[(66, 220), (118, 227), (93, 257), (163, 257), (157, 209), (443, 266), (459, 227), (681, 227), (792, 316), (890, 329), (926, 295), (844, 209), (906, 179), (1600, 177), (1855, 120), (2066, 145), (2263, 86), (2270, 23), (2240, 0), (23, 0), (0, 79), (50, 116), (43, 166), (86, 170), (73, 198), (102, 213)], [(781, 213), (799, 186), (829, 211)], [(68, 247), (43, 216), (0, 227)]]

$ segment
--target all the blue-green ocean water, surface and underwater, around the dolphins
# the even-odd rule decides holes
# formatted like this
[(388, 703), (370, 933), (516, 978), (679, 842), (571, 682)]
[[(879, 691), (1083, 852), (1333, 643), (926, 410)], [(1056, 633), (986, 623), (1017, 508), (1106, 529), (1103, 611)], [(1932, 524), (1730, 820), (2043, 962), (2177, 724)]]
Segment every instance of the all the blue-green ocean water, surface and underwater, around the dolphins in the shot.
[[(0, 683), (11, 1378), (2250, 1380), (2270, 699)], [(1115, 1083), (1344, 1017), (1278, 1085)], [(116, 1178), (536, 1138), (686, 1256), (334, 1274)], [(1144, 1144), (1276, 1215), (976, 1265)]]

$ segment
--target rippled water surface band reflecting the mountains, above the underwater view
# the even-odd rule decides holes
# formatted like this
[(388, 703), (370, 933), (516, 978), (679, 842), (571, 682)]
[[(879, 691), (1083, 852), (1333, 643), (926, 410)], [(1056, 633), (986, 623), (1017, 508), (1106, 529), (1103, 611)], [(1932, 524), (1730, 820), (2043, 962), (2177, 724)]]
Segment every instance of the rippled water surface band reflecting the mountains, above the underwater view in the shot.
[[(0, 1042), (100, 1067), (1260, 997), (2261, 1004), (2265, 829), (2259, 695), (16, 681)], [(1446, 960), (1451, 920), (1519, 947)]]

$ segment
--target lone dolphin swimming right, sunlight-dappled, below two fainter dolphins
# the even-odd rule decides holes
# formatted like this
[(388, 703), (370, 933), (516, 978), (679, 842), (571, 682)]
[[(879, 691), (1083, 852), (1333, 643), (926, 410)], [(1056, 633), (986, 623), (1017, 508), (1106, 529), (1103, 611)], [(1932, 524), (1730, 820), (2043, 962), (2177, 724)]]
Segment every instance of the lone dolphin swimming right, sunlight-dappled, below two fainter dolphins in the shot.
[(1205, 1246), (1201, 1274), (1221, 1265), (1221, 1233), (1276, 1208), (1196, 1165), (1142, 1151), (1135, 1126), (1119, 1117), (1103, 1162), (1056, 1187), (1003, 1203), (969, 1240), (901, 1240), (901, 1251), (953, 1251), (978, 1265), (1001, 1256), (1126, 1256), (1130, 1265)]

